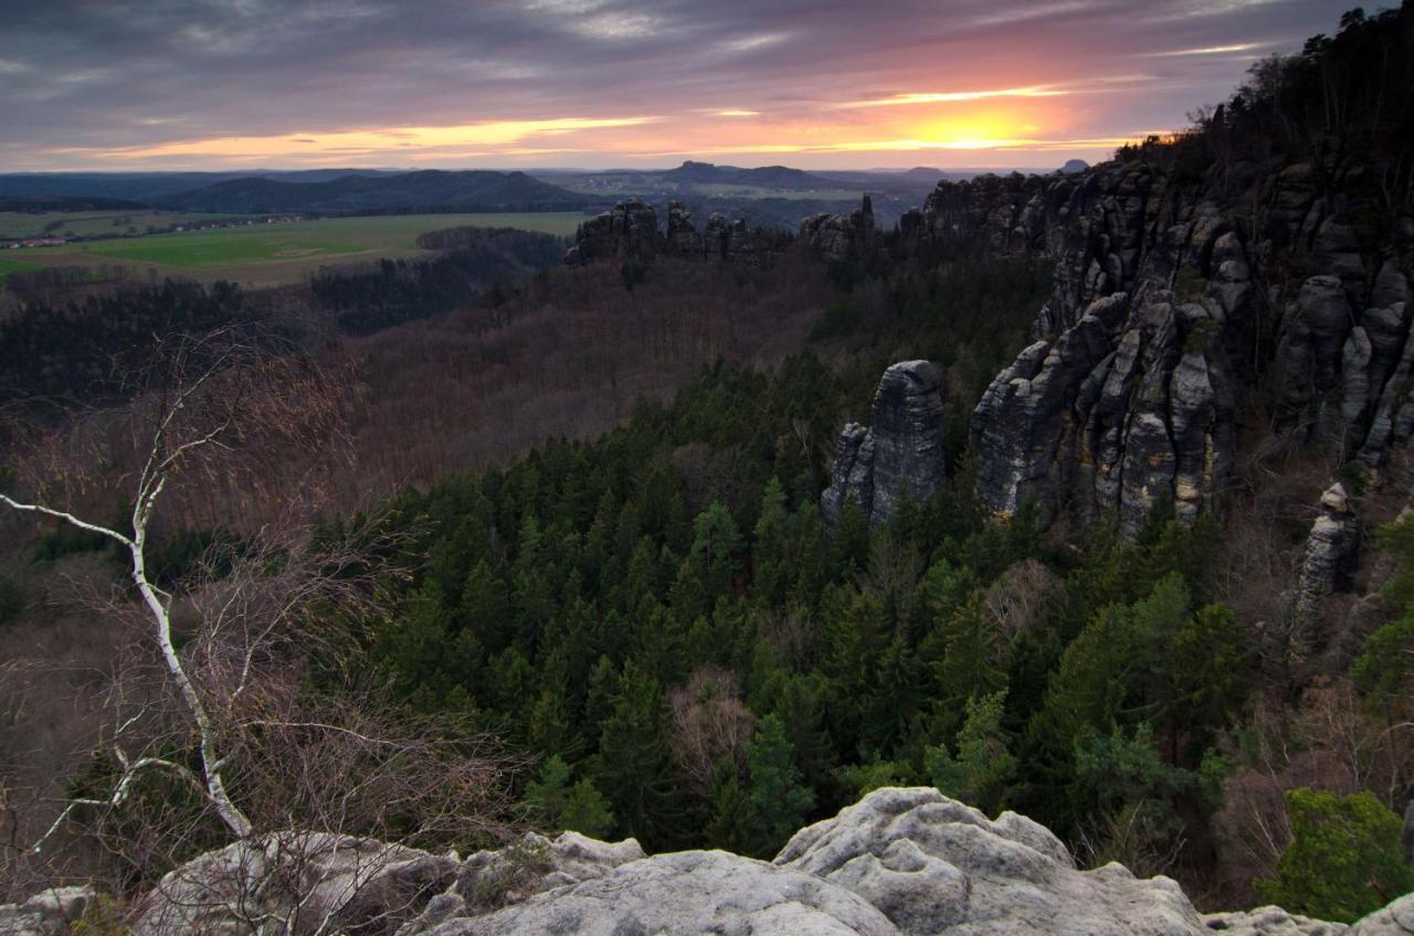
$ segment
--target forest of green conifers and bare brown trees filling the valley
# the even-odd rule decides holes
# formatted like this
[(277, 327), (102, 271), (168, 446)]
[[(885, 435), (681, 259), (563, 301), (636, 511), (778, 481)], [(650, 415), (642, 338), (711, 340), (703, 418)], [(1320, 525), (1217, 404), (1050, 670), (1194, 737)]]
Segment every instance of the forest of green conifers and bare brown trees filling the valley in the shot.
[[(1362, 71), (1381, 31), (1407, 42), (1400, 17), (1348, 18), (1254, 69), (1226, 112), (1117, 164), (1192, 181), (1251, 157), (1254, 140), (1263, 158), (1309, 156), (1316, 117), (1297, 113), (1312, 98), (1301, 82), (1343, 95), (1342, 126), (1369, 131), (1352, 130), (1350, 146), (1407, 150), (1390, 131), (1410, 127), (1407, 93), (1391, 117)], [(1408, 202), (1398, 167), (1390, 216)], [(197, 607), (247, 560), (256, 580), (293, 566), (293, 547), (262, 551), (290, 503), (308, 510), (297, 519), (315, 554), (349, 550), (324, 573), (361, 599), (345, 607), (331, 587), (296, 615), (311, 633), (337, 619), (337, 652), (296, 639), (270, 657), (296, 673), (290, 698), (376, 687), (399, 717), (434, 725), (427, 737), (495, 749), (496, 823), (433, 829), (428, 846), (574, 830), (769, 860), (864, 793), (932, 786), (1044, 823), (1085, 867), (1172, 875), (1205, 908), (1277, 902), (1353, 920), (1414, 889), (1400, 841), (1414, 783), (1403, 451), (1377, 476), (1343, 440), (1287, 444), (1273, 417), (1282, 402), (1254, 382), (1233, 407), (1241, 458), (1222, 510), (1182, 522), (1159, 496), (1133, 536), (1034, 499), (998, 517), (977, 492), (970, 427), (1029, 344), (1063, 341), (1034, 325), (1065, 271), (976, 236), (921, 242), (901, 226), (878, 240), (834, 259), (797, 239), (754, 263), (663, 253), (563, 267), (566, 245), (547, 235), (452, 230), (426, 235), (436, 259), (331, 269), (307, 287), (170, 281), (31, 303), (0, 321), (0, 400), (23, 413), (0, 431), (55, 461), (10, 464), (0, 482), (34, 484), (37, 468), (100, 451), (34, 486), (132, 533), (123, 482), (147, 451), (105, 413), (143, 411), (153, 385), (130, 376), (130, 356), (153, 335), (239, 332), (255, 372), (276, 359), (308, 399), (328, 393), (308, 435), (243, 474), (215, 462), (174, 481), (147, 556), (161, 587)], [(1290, 247), (1271, 270), (1301, 281), (1307, 262)], [(1212, 329), (1193, 327), (1172, 356), (1206, 353)], [(1273, 322), (1250, 338), (1254, 358), (1278, 353)], [(880, 375), (909, 359), (943, 375), (946, 488), (902, 492), (872, 526), (846, 503), (830, 527), (820, 495), (840, 428), (868, 423)], [(1329, 598), (1357, 626), (1315, 652), (1281, 615), (1332, 479), (1374, 523), (1359, 574)], [(14, 785), (0, 830), (18, 836), (44, 803), (112, 776), (89, 755), (117, 638), (74, 592), (136, 592), (113, 537), (11, 515), (0, 532), (0, 638), (24, 648), (14, 660), (38, 656), (30, 648), (61, 659), (38, 687), (33, 670), (0, 670), (0, 778)], [(61, 704), (71, 694), (86, 701)], [(198, 748), (164, 756), (197, 771)], [(11, 806), (21, 795), (34, 816)], [(120, 806), (92, 836), (99, 857), (75, 861), (130, 892), (221, 841), (211, 810), (163, 782)], [(134, 826), (163, 814), (180, 846), (136, 860), (119, 844), (123, 810)], [(379, 831), (421, 817), (379, 813)]]

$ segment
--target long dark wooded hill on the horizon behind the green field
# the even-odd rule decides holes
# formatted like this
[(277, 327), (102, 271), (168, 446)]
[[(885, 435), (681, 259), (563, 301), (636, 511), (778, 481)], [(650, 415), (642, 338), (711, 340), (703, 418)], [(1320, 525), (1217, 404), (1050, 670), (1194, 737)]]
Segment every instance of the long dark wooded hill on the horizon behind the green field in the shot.
[(233, 178), (154, 198), (163, 208), (232, 212), (577, 209), (590, 199), (525, 172), (484, 170), (341, 175), (315, 182)]

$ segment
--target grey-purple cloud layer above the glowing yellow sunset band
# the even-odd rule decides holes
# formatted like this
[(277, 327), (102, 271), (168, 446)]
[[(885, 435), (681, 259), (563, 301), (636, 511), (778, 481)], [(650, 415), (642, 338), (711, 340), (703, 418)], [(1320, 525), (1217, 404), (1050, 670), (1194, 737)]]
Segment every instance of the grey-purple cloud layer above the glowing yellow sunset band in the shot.
[(1350, 1), (8, 0), (0, 168), (216, 136), (721, 109), (809, 120), (861, 98), (1145, 75), (1094, 95), (1104, 126), (1079, 127), (1120, 133), (1176, 126)]

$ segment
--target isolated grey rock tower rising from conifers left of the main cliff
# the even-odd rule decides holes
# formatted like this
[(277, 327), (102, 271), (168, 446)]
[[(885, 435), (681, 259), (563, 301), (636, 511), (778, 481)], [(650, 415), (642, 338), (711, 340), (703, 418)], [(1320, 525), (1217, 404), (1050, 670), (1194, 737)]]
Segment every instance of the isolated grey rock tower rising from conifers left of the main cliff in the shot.
[(840, 433), (830, 486), (820, 495), (830, 526), (848, 502), (880, 526), (901, 496), (926, 501), (947, 481), (942, 380), (930, 362), (904, 361), (885, 370), (870, 419), (868, 428), (850, 423)]

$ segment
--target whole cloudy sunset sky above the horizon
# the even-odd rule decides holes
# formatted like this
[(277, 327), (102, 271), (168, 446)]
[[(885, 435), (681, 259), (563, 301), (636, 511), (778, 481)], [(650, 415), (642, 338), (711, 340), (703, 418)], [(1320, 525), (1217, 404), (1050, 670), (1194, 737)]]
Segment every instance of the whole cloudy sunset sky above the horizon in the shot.
[(4, 0), (0, 171), (1053, 168), (1355, 0)]

